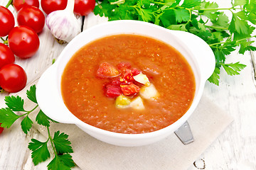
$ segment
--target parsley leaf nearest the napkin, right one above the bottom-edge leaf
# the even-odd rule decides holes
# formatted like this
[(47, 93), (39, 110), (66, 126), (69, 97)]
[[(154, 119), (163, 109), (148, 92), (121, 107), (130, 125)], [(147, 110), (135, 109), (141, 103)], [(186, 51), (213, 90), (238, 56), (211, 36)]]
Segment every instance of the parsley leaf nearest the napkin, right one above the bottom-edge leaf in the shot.
[(54, 133), (53, 143), (58, 154), (73, 153), (70, 146), (71, 142), (68, 140), (68, 135), (57, 131)]

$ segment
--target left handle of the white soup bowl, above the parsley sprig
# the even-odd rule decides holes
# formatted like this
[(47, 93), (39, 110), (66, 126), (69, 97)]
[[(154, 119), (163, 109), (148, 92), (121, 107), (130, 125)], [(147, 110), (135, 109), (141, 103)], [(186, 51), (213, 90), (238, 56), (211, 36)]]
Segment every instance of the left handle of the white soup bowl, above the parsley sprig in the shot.
[(55, 64), (51, 65), (40, 77), (36, 85), (36, 100), (49, 118), (60, 123), (75, 123), (78, 118), (68, 111), (58, 94)]

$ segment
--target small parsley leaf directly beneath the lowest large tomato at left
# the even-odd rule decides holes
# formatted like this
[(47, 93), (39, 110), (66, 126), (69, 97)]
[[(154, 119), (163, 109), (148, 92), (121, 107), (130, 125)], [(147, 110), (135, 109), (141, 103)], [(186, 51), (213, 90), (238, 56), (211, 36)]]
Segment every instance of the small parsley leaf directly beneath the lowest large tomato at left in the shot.
[(24, 100), (20, 96), (6, 96), (4, 101), (12, 111), (25, 111), (23, 108)]

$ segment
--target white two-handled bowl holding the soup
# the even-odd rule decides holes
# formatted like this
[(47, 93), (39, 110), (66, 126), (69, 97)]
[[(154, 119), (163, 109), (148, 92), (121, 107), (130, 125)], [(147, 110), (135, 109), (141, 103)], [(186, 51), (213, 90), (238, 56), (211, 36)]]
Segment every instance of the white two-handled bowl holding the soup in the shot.
[[(65, 65), (80, 47), (88, 42), (115, 34), (145, 35), (164, 41), (181, 52), (193, 69), (196, 78), (196, 93), (188, 111), (175, 123), (161, 130), (143, 134), (122, 134), (95, 128), (75, 117), (63, 103), (60, 81)], [(36, 90), (38, 104), (46, 115), (60, 123), (77, 125), (81, 130), (103, 142), (119, 146), (142, 146), (162, 140), (171, 135), (188, 120), (198, 105), (204, 84), (215, 68), (212, 50), (201, 38), (179, 30), (168, 30), (142, 21), (110, 21), (89, 28), (76, 36), (61, 52), (55, 64), (49, 67), (39, 79)]]

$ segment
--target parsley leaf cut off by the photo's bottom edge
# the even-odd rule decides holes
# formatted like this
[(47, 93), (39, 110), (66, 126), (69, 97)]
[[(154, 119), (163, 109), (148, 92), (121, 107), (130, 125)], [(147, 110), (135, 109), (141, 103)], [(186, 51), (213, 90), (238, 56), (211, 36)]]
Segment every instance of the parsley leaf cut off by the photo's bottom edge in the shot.
[(54, 159), (48, 164), (48, 169), (69, 170), (75, 166), (70, 154), (55, 155)]

